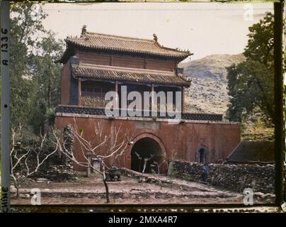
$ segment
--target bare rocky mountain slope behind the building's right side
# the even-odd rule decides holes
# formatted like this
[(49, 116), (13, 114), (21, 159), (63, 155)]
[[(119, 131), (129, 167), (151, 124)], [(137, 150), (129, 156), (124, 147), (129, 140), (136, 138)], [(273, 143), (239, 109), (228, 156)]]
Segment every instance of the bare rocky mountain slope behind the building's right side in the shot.
[(192, 79), (190, 88), (185, 89), (186, 111), (225, 114), (229, 103), (226, 67), (242, 61), (242, 54), (210, 55), (178, 65), (185, 77)]

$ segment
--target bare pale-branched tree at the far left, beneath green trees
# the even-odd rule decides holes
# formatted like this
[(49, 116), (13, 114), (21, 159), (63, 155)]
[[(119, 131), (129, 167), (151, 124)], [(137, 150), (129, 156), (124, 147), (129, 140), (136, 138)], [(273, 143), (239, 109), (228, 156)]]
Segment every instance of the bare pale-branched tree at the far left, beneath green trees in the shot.
[(58, 146), (52, 151), (43, 148), (47, 141), (47, 136), (41, 135), (33, 139), (33, 142), (23, 144), (21, 142), (22, 126), (12, 128), (12, 141), (10, 150), (11, 178), (16, 187), (16, 197), (19, 196), (19, 189), (28, 178), (33, 176), (48, 158), (57, 152)]

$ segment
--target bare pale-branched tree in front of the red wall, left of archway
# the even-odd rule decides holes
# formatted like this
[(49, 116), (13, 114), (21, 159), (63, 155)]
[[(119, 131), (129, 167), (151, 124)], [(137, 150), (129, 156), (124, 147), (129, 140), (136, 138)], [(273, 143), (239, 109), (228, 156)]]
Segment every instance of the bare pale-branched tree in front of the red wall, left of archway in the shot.
[[(110, 170), (115, 165), (115, 162), (118, 161), (118, 158), (125, 154), (127, 146), (130, 144), (128, 131), (123, 131), (120, 124), (118, 127), (110, 128), (110, 133), (107, 133), (107, 130), (105, 130), (106, 128), (103, 127), (102, 123), (98, 122), (94, 125), (93, 140), (87, 140), (84, 138), (84, 129), (78, 128), (75, 120), (74, 126), (70, 125), (69, 127), (71, 134), (74, 137), (74, 141), (78, 142), (81, 147), (81, 156), (83, 160), (79, 160), (79, 158), (74, 155), (73, 150), (67, 148), (64, 141), (57, 138), (59, 150), (77, 165), (90, 168), (103, 177), (106, 203), (109, 203), (109, 188), (107, 184), (109, 171), (106, 170)], [(93, 167), (91, 157), (98, 159), (101, 166), (100, 170)]]

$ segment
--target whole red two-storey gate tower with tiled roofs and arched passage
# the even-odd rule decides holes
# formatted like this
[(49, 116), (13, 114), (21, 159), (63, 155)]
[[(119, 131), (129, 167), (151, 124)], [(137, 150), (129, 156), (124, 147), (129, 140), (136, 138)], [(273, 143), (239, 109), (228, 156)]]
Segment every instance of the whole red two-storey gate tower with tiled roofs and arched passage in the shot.
[[(65, 41), (67, 49), (57, 60), (64, 67), (61, 70), (61, 105), (55, 111), (56, 127), (62, 129), (69, 124), (74, 125), (76, 118), (77, 128), (83, 129), (84, 139), (88, 141), (93, 141), (93, 125), (98, 123), (102, 123), (108, 136), (113, 128), (120, 125), (123, 132), (138, 133), (132, 138), (133, 143), (127, 146), (128, 152), (118, 157), (116, 165), (142, 171), (144, 160), (140, 164), (137, 154), (142, 159), (154, 155), (146, 162), (145, 172), (150, 172), (151, 163), (164, 160), (165, 153), (166, 161), (176, 154), (178, 160), (212, 163), (225, 160), (239, 144), (239, 124), (222, 121), (222, 114), (183, 111), (182, 121), (170, 124), (169, 116), (160, 116), (159, 113), (155, 118), (143, 116), (146, 109), (142, 109), (142, 116), (130, 115), (129, 111), (126, 113), (130, 103), (125, 105), (125, 95), (118, 97), (116, 103), (119, 116), (105, 112), (105, 95), (108, 92), (121, 95), (123, 88), (128, 94), (136, 91), (144, 96), (144, 92), (161, 92), (167, 98), (168, 92), (172, 92), (173, 104), (177, 103), (174, 99), (176, 92), (181, 92), (178, 103), (184, 110), (184, 90), (190, 87), (190, 80), (183, 77), (177, 66), (178, 62), (192, 55), (191, 52), (164, 48), (159, 45), (156, 35), (150, 40), (126, 38), (88, 32), (86, 26), (82, 28), (80, 37), (70, 37)], [(161, 102), (161, 98), (159, 100)], [(202, 138), (207, 146), (205, 150), (198, 148)], [(73, 147), (75, 157), (79, 162), (85, 162), (78, 141), (74, 141)], [(215, 152), (207, 154), (209, 150)], [(159, 173), (166, 173), (167, 167), (165, 162)], [(84, 171), (86, 168), (74, 162), (74, 170)]]

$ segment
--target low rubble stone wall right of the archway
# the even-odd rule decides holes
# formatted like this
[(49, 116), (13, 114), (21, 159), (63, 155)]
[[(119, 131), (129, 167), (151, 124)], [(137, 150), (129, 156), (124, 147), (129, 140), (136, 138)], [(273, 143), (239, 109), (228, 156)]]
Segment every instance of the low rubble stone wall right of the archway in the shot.
[[(251, 188), (253, 192), (274, 193), (274, 165), (207, 165), (207, 183), (244, 192)], [(174, 160), (170, 162), (168, 174), (193, 182), (202, 181), (202, 165), (194, 162)]]

